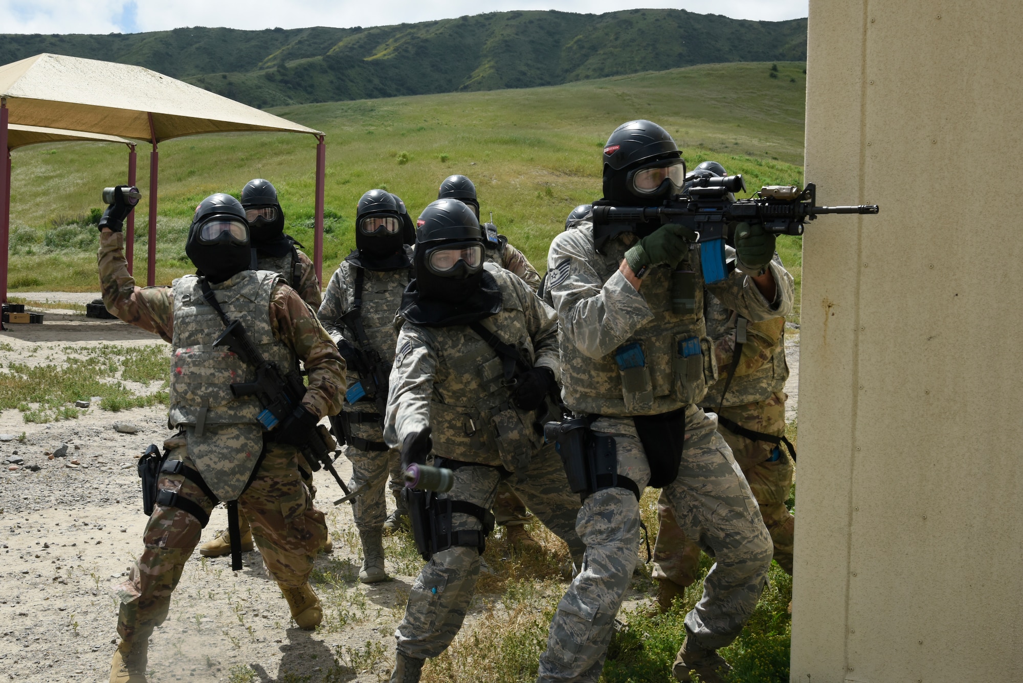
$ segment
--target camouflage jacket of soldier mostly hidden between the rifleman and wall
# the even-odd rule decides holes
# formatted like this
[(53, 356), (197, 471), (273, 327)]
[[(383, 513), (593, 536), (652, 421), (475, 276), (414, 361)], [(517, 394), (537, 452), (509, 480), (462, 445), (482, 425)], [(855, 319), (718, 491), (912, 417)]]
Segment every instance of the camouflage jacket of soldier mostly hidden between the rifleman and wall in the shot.
[(719, 405), (743, 406), (766, 401), (785, 389), (789, 378), (789, 364), (785, 360), (785, 318), (776, 317), (746, 325), (746, 343), (743, 345), (739, 365), (728, 385), (728, 396), (721, 401), (721, 392), (735, 358), (736, 327), (739, 314), (729, 310), (718, 299), (707, 292), (707, 333), (714, 339), (719, 377), (707, 390), (700, 405), (716, 410)]

